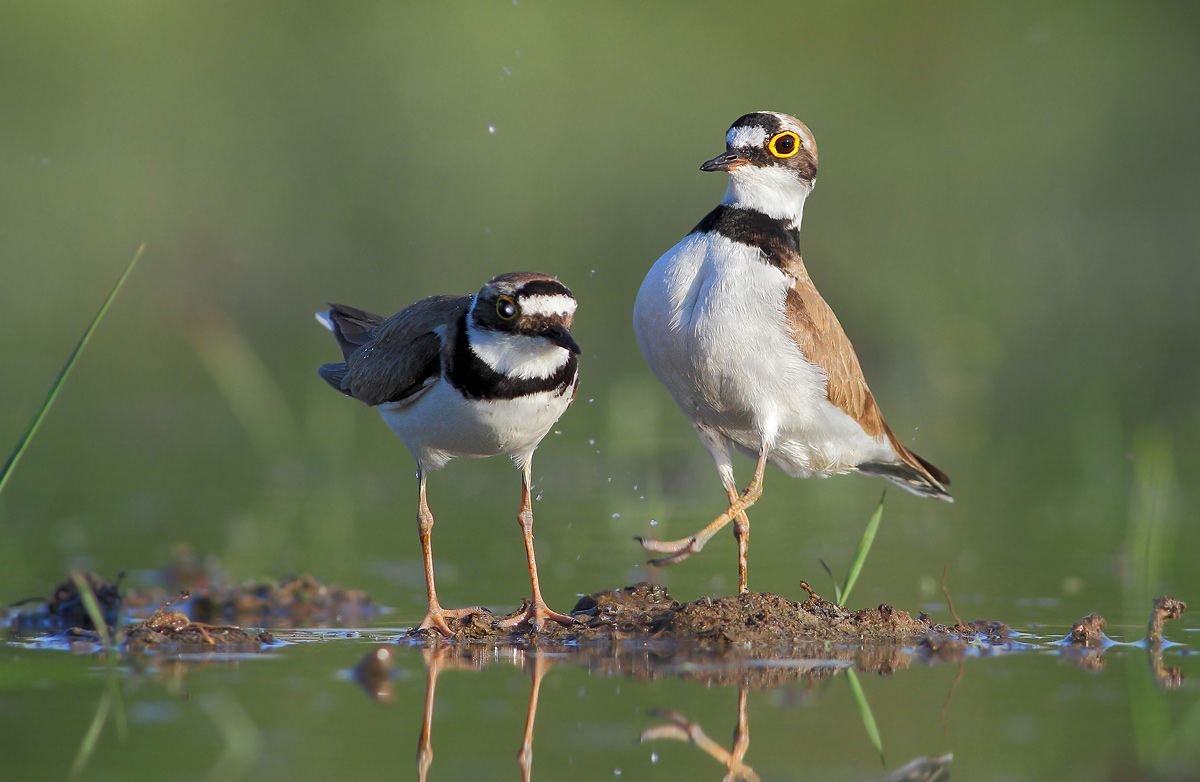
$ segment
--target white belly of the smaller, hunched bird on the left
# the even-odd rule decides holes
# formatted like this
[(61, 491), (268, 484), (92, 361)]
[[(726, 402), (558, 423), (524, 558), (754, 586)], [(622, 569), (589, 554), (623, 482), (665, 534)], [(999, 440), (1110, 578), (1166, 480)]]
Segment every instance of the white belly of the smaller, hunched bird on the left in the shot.
[(518, 464), (571, 403), (572, 392), (546, 391), (516, 399), (466, 399), (438, 380), (415, 401), (380, 404), (379, 415), (425, 469), (436, 470), (456, 456), (508, 453)]

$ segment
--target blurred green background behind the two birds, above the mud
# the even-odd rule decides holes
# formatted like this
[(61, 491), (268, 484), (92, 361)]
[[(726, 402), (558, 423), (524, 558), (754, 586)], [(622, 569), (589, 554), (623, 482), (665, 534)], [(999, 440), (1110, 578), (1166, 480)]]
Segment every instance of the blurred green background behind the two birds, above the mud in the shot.
[[(0, 498), (6, 601), (190, 541), (236, 578), (308, 571), (419, 616), (412, 459), (318, 379), (336, 348), (312, 313), (391, 313), (527, 269), (580, 299), (586, 349), (534, 463), (547, 600), (644, 577), (630, 537), (689, 534), (724, 494), (637, 351), (634, 296), (724, 192), (698, 164), (763, 108), (812, 128), (811, 275), (893, 428), (954, 479), (953, 506), (889, 494), (857, 600), (938, 600), (949, 564), (973, 612), (1056, 598), (1069, 620), (1120, 604), (1139, 540), (1147, 592), (1200, 586), (1195, 6), (5, 17), (0, 443), (148, 245)], [(504, 459), (432, 477), (446, 604), (527, 594), (518, 485)], [(751, 588), (828, 589), (817, 559), (844, 571), (883, 487), (769, 473)], [(661, 575), (685, 598), (734, 577), (727, 535)]]

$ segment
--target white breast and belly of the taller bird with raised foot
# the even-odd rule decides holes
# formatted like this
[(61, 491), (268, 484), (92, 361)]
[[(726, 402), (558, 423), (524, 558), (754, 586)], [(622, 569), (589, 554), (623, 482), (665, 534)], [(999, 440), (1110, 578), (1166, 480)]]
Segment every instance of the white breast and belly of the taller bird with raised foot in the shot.
[(829, 403), (824, 373), (792, 339), (784, 314), (790, 287), (757, 249), (691, 234), (642, 283), (637, 343), (689, 419), (751, 453), (766, 441), (770, 461), (791, 475), (890, 461), (890, 445)]

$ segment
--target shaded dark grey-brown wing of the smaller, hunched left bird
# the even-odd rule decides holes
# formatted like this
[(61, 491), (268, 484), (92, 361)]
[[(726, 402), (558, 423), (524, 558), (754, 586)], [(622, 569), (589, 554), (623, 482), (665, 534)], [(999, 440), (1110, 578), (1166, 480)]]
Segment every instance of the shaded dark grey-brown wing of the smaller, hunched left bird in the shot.
[[(431, 296), (409, 305), (373, 329), (346, 356), (343, 387), (367, 404), (398, 402), (442, 372), (438, 329), (454, 329), (470, 308), (470, 296)], [(338, 308), (330, 318), (338, 323)]]

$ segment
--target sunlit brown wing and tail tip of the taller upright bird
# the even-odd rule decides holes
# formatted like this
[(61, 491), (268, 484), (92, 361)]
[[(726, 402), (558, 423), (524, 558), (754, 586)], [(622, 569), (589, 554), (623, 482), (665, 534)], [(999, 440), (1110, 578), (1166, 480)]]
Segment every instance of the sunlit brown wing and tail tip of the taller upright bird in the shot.
[(784, 271), (793, 279), (784, 303), (792, 338), (804, 356), (826, 373), (829, 402), (858, 421), (868, 435), (887, 437), (902, 462), (902, 465), (862, 464), (859, 469), (888, 477), (917, 494), (949, 499), (946, 487), (950, 479), (905, 447), (883, 420), (871, 390), (866, 387), (854, 347), (833, 309), (817, 293), (804, 261), (796, 255)]

